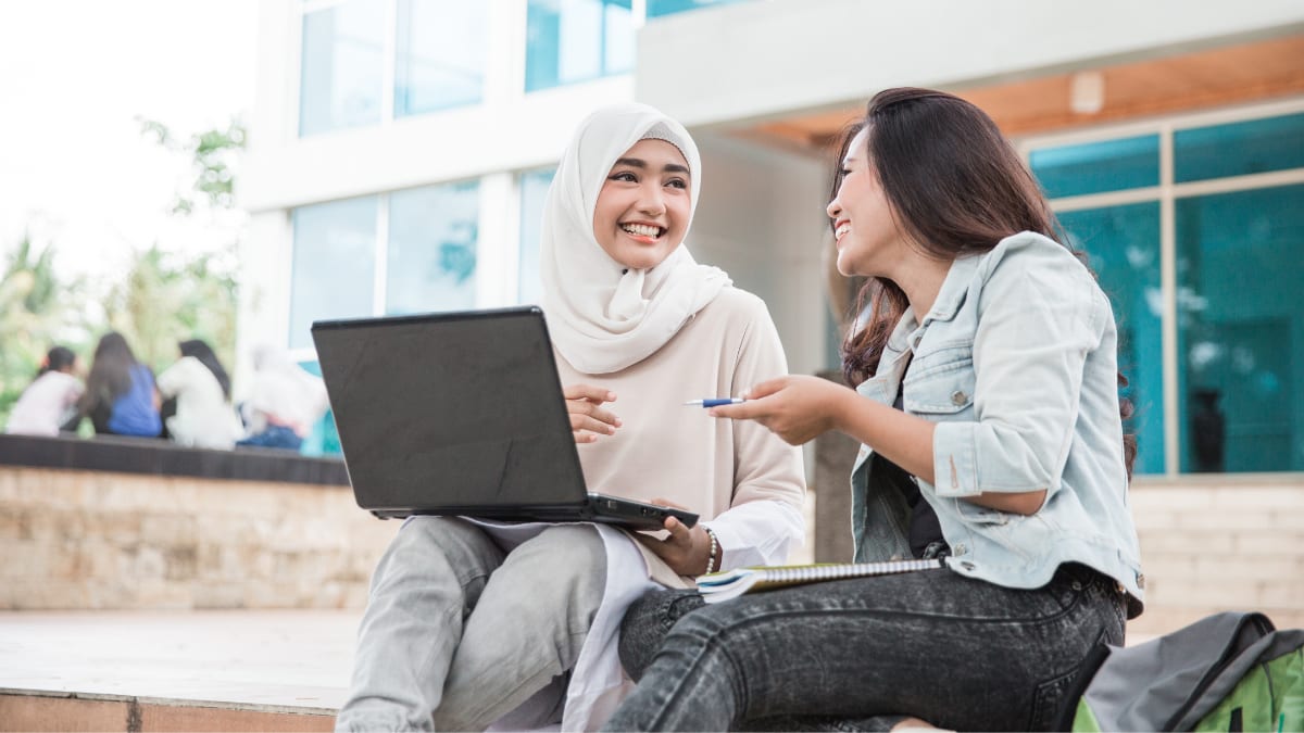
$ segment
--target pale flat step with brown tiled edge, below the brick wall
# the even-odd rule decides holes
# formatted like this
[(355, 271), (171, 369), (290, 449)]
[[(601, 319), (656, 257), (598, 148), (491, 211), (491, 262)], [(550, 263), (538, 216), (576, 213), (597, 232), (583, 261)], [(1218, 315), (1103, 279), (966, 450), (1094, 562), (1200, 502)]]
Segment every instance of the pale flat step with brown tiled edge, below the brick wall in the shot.
[(330, 730), (361, 612), (0, 612), (0, 732)]

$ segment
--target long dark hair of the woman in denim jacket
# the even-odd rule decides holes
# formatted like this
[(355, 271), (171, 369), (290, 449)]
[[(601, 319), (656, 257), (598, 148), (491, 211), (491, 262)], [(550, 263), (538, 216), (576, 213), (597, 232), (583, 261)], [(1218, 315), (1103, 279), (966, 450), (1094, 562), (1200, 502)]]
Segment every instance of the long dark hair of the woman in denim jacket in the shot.
[[(1022, 231), (1060, 244), (1067, 240), (1037, 179), (996, 123), (973, 103), (931, 89), (880, 91), (870, 99), (865, 119), (844, 130), (838, 168), (861, 130), (897, 226), (925, 253), (952, 261), (990, 252)], [(833, 196), (840, 184), (835, 176)], [(1085, 262), (1084, 253), (1065, 249)], [(852, 385), (878, 372), (888, 337), (909, 305), (896, 283), (874, 277), (861, 288), (857, 313), (866, 304), (868, 320), (842, 344), (842, 372)], [(1127, 385), (1121, 373), (1119, 385)], [(1131, 417), (1131, 400), (1120, 398), (1119, 411), (1124, 420)], [(1136, 451), (1136, 436), (1125, 434), (1129, 477)]]

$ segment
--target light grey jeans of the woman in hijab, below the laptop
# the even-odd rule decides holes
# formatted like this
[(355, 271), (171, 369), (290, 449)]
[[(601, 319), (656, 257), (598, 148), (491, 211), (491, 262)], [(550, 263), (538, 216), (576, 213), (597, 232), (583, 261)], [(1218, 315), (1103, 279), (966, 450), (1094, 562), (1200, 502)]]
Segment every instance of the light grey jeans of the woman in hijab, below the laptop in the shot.
[(484, 730), (575, 665), (605, 582), (585, 524), (507, 553), (464, 519), (409, 519), (372, 576), (335, 729)]

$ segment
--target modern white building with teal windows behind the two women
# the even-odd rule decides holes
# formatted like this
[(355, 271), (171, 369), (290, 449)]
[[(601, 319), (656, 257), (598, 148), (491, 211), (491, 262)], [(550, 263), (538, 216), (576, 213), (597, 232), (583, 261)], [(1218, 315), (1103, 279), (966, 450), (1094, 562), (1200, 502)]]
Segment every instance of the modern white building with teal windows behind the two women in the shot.
[(827, 369), (828, 143), (931, 86), (1016, 141), (1114, 299), (1142, 480), (1304, 484), (1297, 0), (269, 0), (259, 53), (241, 355), (535, 301), (552, 166), (634, 99), (702, 147), (694, 254), (767, 300), (793, 372)]

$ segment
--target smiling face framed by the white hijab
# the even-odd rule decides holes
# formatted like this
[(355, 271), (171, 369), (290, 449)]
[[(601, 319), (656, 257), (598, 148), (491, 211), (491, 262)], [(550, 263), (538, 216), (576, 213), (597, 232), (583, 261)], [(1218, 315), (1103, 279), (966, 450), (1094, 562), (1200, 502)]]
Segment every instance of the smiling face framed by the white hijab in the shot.
[(692, 179), (679, 149), (640, 140), (606, 175), (593, 207), (597, 244), (625, 267), (656, 267), (683, 241), (692, 214)]

